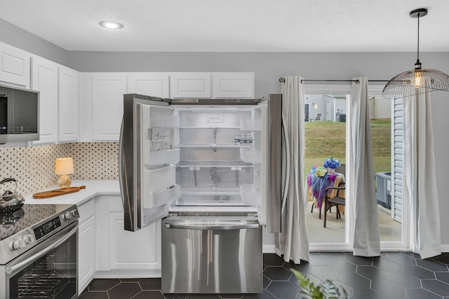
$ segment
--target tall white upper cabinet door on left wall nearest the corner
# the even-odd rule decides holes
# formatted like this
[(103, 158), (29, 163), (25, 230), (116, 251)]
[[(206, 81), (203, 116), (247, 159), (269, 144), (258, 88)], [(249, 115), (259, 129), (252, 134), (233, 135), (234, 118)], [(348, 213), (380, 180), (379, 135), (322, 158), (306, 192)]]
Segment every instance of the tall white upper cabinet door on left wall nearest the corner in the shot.
[(79, 140), (79, 72), (59, 67), (59, 141)]

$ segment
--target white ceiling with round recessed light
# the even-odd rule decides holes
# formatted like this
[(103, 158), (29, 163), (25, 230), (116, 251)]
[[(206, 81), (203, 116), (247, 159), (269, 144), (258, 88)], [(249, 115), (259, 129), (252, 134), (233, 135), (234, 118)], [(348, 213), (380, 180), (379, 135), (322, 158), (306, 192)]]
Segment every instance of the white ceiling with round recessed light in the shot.
[(449, 52), (448, 0), (8, 0), (0, 18), (65, 50), (415, 52), (415, 8), (420, 50)]

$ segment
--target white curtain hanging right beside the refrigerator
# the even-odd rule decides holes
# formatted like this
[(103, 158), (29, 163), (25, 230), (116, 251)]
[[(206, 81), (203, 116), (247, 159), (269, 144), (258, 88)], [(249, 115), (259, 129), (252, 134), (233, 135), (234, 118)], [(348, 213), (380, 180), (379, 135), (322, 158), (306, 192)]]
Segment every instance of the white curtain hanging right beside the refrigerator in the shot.
[[(284, 76), (281, 83), (283, 118), (287, 138), (283, 138), (283, 169), (289, 167), (289, 175), (283, 174), (283, 184), (288, 183), (282, 204), (282, 232), (276, 234), (276, 253), (288, 262), (309, 260), (309, 239), (306, 229), (306, 190), (304, 177), (304, 84), (300, 76)], [(288, 149), (286, 148), (288, 146)], [(286, 181), (288, 177), (288, 181)]]

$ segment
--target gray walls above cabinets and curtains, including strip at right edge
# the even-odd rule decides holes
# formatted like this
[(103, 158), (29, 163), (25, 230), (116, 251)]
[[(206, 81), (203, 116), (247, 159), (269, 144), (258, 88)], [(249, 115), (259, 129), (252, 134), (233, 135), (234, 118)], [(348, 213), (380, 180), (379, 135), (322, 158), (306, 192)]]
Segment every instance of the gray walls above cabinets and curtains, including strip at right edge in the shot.
[[(297, 74), (307, 79), (368, 76), (389, 80), (413, 69), (416, 53), (95, 53), (65, 51), (0, 19), (0, 41), (78, 71), (253, 71), (256, 97), (279, 92), (279, 78)], [(382, 42), (382, 41), (380, 41)], [(388, 49), (388, 45), (385, 45)], [(411, 49), (413, 50), (413, 49)], [(449, 73), (449, 52), (420, 53), (424, 68)], [(381, 83), (380, 83), (381, 84)], [(449, 92), (432, 94), (437, 186), (440, 198), (442, 242), (448, 245), (449, 200), (445, 198), (445, 169), (449, 169)]]

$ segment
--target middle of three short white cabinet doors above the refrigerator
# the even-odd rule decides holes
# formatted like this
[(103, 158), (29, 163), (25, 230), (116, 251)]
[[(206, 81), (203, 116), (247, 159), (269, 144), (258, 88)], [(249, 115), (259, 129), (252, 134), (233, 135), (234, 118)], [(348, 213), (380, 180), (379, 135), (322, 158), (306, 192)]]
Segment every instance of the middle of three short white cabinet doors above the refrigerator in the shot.
[(208, 98), (210, 73), (173, 73), (170, 76), (170, 97)]

